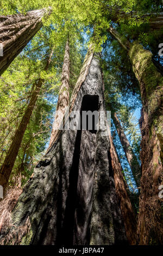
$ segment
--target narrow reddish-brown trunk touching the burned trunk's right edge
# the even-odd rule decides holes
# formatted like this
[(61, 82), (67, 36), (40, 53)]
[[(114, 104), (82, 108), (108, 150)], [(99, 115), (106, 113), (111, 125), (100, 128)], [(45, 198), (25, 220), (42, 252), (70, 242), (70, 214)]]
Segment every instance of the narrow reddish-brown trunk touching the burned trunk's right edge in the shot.
[(136, 218), (133, 207), (131, 205), (127, 190), (129, 190), (126, 181), (124, 181), (122, 174), (122, 166), (118, 159), (117, 152), (112, 141), (111, 133), (110, 139), (110, 157), (112, 171), (114, 173), (114, 181), (116, 188), (116, 195), (118, 203), (121, 206), (122, 216), (124, 220), (124, 227), (126, 229), (127, 239), (130, 245), (136, 245)]

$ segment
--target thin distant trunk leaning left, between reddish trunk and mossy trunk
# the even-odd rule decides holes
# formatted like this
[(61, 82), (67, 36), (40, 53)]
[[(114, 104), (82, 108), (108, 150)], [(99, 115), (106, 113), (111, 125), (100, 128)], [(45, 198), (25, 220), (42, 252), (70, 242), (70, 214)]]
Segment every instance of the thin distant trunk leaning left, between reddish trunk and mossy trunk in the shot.
[(117, 114), (115, 113), (114, 116), (112, 116), (115, 127), (117, 129), (118, 136), (120, 138), (124, 153), (126, 154), (128, 163), (130, 165), (131, 171), (133, 172), (133, 176), (136, 182), (137, 187), (140, 187), (140, 178), (141, 178), (141, 170), (140, 165), (137, 162), (137, 158), (129, 144), (129, 141), (124, 134), (123, 128), (121, 126), (120, 121), (118, 120)]

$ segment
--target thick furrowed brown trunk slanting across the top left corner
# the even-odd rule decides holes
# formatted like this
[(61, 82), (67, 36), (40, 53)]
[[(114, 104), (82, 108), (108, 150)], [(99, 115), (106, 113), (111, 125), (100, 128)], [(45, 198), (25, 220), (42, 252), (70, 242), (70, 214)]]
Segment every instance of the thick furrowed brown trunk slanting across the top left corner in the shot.
[(26, 15), (0, 16), (0, 43), (3, 56), (0, 56), (0, 75), (9, 67), (14, 58), (42, 27), (42, 17), (51, 9), (29, 11)]

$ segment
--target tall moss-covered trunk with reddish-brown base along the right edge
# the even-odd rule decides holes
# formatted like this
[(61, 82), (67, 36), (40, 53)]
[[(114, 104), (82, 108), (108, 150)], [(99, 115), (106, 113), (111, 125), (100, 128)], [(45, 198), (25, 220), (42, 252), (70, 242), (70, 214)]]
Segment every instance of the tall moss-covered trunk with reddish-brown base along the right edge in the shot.
[[(141, 245), (163, 241), (161, 198), (158, 188), (162, 183), (163, 163), (163, 77), (152, 62), (152, 53), (134, 41), (122, 42), (121, 36), (110, 27), (109, 31), (128, 50), (133, 71), (140, 84), (142, 99), (141, 128), (141, 194), (137, 231)], [(158, 234), (158, 230), (160, 230)]]

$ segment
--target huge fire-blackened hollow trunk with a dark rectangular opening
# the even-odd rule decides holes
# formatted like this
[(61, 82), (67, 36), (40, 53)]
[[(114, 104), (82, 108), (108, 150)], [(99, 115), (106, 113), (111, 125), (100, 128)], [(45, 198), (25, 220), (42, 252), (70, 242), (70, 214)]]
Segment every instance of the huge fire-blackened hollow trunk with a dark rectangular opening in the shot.
[[(81, 130), (78, 112), (104, 111), (99, 59), (90, 50), (70, 101), (65, 127), (34, 170), (12, 212), (1, 243), (114, 245), (127, 242), (105, 129)], [(74, 112), (75, 111), (75, 112)], [(106, 116), (104, 120), (106, 123)], [(23, 230), (23, 231), (21, 231)]]

